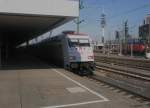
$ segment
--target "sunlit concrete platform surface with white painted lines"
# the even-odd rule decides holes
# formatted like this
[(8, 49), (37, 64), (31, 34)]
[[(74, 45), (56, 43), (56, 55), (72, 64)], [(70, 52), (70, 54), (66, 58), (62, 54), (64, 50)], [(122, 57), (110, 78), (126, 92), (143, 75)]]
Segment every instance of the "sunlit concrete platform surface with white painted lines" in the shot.
[(148, 108), (61, 68), (0, 70), (0, 108)]

